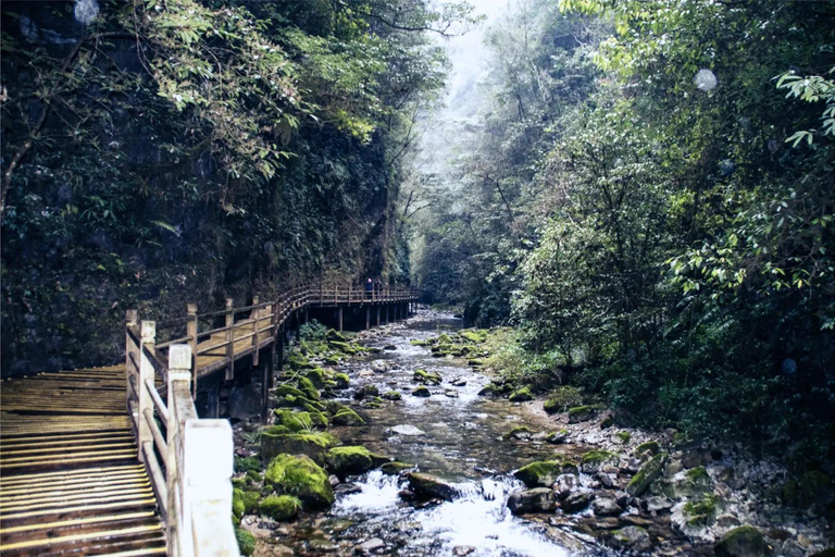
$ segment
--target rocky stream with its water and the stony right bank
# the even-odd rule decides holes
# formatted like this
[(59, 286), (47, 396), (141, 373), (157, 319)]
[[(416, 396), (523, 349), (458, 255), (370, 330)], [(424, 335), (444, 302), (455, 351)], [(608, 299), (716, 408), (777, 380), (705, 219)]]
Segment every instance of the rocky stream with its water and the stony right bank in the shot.
[[(621, 428), (599, 408), (549, 414), (541, 400), (484, 396), (491, 377), (422, 345), (461, 325), (423, 310), (359, 333), (370, 354), (329, 362), (350, 385), (333, 403), (364, 423), (334, 419), (344, 424), (327, 432), (404, 465), (331, 475), (333, 505), (289, 521), (242, 512), (253, 555), (833, 555), (825, 480), (824, 493), (796, 480), (805, 499), (789, 506), (786, 470), (740, 447)], [(239, 441), (253, 430), (236, 428)], [(246, 478), (261, 487), (258, 474), (236, 485)]]

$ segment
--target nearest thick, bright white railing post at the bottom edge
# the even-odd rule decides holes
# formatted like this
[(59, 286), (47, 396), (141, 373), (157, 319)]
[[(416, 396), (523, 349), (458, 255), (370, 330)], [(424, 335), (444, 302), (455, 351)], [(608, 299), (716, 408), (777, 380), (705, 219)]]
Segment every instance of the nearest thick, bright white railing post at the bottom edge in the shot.
[(229, 520), (234, 454), (228, 421), (186, 421), (183, 487), (192, 531), (192, 555), (238, 555)]

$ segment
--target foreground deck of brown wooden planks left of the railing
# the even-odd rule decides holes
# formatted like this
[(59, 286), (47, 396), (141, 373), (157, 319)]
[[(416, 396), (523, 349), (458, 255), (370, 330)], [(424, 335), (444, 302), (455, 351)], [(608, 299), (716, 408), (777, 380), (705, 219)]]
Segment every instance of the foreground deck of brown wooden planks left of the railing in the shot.
[(125, 411), (124, 366), (3, 381), (0, 554), (164, 553)]

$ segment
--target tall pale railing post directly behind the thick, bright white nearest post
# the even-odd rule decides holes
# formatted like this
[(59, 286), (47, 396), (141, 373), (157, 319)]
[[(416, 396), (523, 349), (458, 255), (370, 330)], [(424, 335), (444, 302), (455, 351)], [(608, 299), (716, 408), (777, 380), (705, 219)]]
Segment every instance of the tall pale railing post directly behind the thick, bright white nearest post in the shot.
[(177, 393), (188, 393), (191, 387), (191, 347), (185, 344), (174, 344), (169, 348), (169, 424), (166, 428), (166, 444), (169, 447), (169, 465), (165, 467), (165, 487), (169, 493), (165, 521), (169, 555), (187, 555), (182, 544), (188, 541), (188, 532), (182, 532), (183, 525), (183, 484), (179, 471), (183, 463), (180, 417), (177, 416), (175, 403)]

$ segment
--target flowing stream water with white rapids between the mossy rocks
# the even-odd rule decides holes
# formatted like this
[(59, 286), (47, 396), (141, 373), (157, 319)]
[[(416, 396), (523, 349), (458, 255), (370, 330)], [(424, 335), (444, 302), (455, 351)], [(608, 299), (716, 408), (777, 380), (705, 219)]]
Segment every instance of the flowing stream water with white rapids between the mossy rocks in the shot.
[[(407, 485), (404, 479), (378, 470), (351, 478), (348, 481), (353, 485), (337, 488), (336, 504), (327, 515), (302, 518), (286, 532), (283, 543), (297, 555), (352, 555), (363, 553), (359, 546), (369, 541), (378, 546), (376, 554), (401, 556), (600, 553), (584, 544), (579, 534), (508, 511), (508, 495), (523, 487), (510, 472), (552, 457), (558, 449), (536, 440), (501, 441), (513, 426), (526, 424), (547, 433), (548, 424), (521, 405), (479, 397), (478, 391), (489, 380), (465, 360), (433, 358), (427, 348), (409, 343), (460, 326), (461, 321), (450, 315), (421, 312), (406, 323), (364, 333), (364, 344), (383, 350), (340, 367), (338, 371), (351, 376), (351, 389), (342, 401), (352, 401), (352, 394), (367, 384), (381, 393), (398, 391), (402, 400), (386, 401), (374, 410), (359, 408), (366, 425), (333, 430), (346, 445), (363, 445), (448, 480), (460, 496), (453, 502), (414, 505), (399, 495)], [(387, 371), (381, 372), (382, 364), (374, 360), (383, 360)], [(419, 368), (443, 377), (441, 385), (429, 387), (428, 398), (411, 395), (416, 386), (412, 374)], [(451, 386), (454, 380), (465, 384)], [(582, 447), (571, 445), (559, 450), (562, 455), (583, 453)]]

